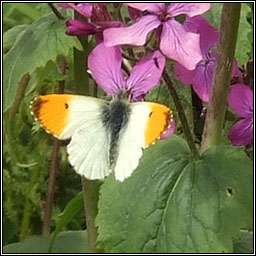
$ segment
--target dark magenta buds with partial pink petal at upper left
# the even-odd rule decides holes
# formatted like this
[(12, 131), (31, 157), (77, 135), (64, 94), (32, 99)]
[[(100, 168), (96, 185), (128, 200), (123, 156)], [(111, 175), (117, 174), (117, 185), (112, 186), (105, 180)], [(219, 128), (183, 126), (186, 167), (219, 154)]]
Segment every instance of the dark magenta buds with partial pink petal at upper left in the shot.
[(97, 43), (103, 41), (103, 31), (106, 28), (121, 27), (122, 22), (112, 21), (106, 5), (98, 4), (59, 4), (63, 8), (72, 8), (85, 18), (91, 18), (91, 22), (81, 20), (68, 20), (66, 33), (71, 36), (94, 35)]

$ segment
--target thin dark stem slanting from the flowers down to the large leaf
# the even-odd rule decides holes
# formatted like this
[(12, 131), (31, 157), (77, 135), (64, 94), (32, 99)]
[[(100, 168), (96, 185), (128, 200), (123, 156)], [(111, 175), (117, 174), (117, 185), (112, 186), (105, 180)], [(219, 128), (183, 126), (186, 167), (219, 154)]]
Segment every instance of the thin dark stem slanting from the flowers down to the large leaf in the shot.
[(184, 135), (186, 137), (187, 143), (189, 145), (189, 148), (191, 150), (191, 152), (193, 153), (194, 157), (199, 159), (199, 153), (197, 151), (194, 139), (193, 139), (193, 135), (191, 133), (191, 130), (189, 128), (189, 124), (185, 115), (185, 111), (183, 109), (183, 106), (181, 104), (180, 98), (178, 96), (178, 93), (176, 91), (176, 88), (173, 85), (173, 82), (171, 80), (171, 78), (169, 77), (168, 73), (166, 70), (164, 70), (163, 72), (163, 79), (167, 85), (167, 88), (173, 98), (174, 104), (176, 106), (176, 109), (178, 111), (178, 115), (181, 121), (181, 125), (182, 125), (182, 129), (184, 132)]

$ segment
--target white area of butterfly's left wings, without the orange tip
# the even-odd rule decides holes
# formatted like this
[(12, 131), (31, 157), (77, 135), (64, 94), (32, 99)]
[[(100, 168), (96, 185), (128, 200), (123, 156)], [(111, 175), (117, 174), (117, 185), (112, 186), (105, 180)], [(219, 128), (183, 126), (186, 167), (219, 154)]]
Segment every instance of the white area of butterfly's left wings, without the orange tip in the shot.
[[(89, 101), (88, 101), (89, 99)], [(102, 122), (102, 106), (106, 104), (85, 97), (70, 104), (71, 120), (63, 136), (73, 131), (67, 146), (68, 159), (75, 171), (87, 179), (103, 179), (110, 174), (110, 134)]]

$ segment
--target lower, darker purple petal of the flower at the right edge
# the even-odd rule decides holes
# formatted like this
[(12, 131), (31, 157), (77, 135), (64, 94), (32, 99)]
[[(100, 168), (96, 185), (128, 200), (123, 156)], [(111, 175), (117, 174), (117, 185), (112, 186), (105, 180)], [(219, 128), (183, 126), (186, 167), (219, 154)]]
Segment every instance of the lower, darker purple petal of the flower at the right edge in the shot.
[(235, 123), (229, 131), (229, 140), (234, 146), (246, 146), (253, 141), (253, 120), (241, 119)]

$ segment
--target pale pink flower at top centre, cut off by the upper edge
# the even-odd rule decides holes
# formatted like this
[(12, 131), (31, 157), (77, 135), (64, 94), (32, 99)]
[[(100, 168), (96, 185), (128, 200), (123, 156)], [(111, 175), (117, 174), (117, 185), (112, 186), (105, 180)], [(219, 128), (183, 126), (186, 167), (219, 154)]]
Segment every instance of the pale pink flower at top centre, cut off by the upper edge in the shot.
[(128, 6), (147, 12), (136, 23), (125, 28), (111, 28), (104, 31), (107, 46), (144, 45), (147, 35), (154, 29), (160, 33), (160, 50), (167, 57), (191, 70), (202, 59), (199, 35), (188, 32), (175, 20), (180, 14), (193, 17), (206, 12), (210, 3), (129, 3)]

